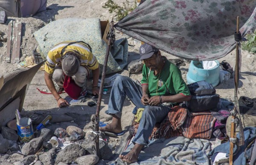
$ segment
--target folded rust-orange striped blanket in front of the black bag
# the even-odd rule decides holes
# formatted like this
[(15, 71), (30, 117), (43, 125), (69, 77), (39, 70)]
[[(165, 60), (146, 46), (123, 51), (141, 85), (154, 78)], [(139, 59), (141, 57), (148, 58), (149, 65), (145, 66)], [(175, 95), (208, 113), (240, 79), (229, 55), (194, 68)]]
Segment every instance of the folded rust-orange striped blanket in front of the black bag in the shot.
[(210, 112), (190, 113), (183, 125), (186, 138), (210, 139), (216, 118)]

